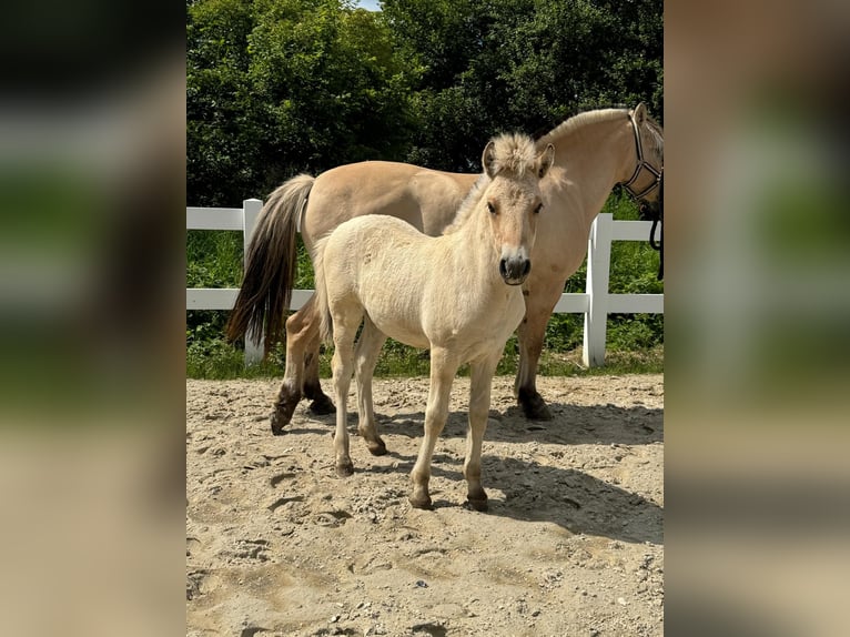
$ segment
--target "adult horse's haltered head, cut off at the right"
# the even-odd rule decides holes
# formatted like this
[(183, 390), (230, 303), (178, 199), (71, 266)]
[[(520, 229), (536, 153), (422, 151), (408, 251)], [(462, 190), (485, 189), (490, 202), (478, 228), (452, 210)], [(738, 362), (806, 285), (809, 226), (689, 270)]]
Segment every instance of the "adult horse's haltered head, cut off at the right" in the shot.
[(642, 102), (629, 111), (629, 122), (635, 168), (630, 179), (623, 182), (623, 188), (638, 202), (642, 219), (660, 219), (664, 214), (659, 196), (664, 173), (664, 131), (647, 114)]

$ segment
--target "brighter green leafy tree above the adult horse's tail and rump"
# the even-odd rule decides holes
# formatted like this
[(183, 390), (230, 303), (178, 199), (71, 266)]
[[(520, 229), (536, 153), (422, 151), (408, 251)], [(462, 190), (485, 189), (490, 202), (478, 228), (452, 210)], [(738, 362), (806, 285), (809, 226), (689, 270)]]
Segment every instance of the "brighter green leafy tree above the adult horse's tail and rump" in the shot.
[(351, 0), (189, 4), (189, 200), (233, 205), (296, 172), (405, 155), (416, 72)]

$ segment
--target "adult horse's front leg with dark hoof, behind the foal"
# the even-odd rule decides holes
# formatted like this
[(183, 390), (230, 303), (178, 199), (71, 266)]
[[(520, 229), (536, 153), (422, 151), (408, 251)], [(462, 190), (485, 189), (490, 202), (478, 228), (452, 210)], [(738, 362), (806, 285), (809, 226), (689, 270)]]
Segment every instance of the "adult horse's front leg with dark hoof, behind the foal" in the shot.
[(526, 296), (526, 314), (519, 324), (519, 370), (516, 373), (514, 395), (523, 413), (533, 421), (550, 421), (552, 412), (537, 392), (537, 365), (540, 362), (546, 323), (564, 290), (564, 282), (555, 285), (533, 285)]

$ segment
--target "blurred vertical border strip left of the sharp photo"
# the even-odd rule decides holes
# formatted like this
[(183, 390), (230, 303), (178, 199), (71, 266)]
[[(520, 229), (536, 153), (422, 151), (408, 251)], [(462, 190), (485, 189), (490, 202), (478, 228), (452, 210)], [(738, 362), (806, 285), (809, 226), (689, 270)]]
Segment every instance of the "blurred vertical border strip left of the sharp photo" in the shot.
[(12, 0), (0, 59), (3, 633), (180, 633), (184, 10)]

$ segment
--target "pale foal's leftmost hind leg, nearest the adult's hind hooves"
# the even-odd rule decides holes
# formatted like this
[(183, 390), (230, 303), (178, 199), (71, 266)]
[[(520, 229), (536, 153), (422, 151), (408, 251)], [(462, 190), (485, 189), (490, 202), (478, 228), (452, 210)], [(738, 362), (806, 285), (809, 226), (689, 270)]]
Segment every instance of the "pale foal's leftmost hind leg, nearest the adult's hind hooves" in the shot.
[(346, 477), (354, 473), (348, 454), (348, 388), (354, 372), (354, 338), (357, 335), (362, 314), (334, 312), (333, 385), (336, 400), (336, 432), (334, 433), (334, 456), (336, 475)]

